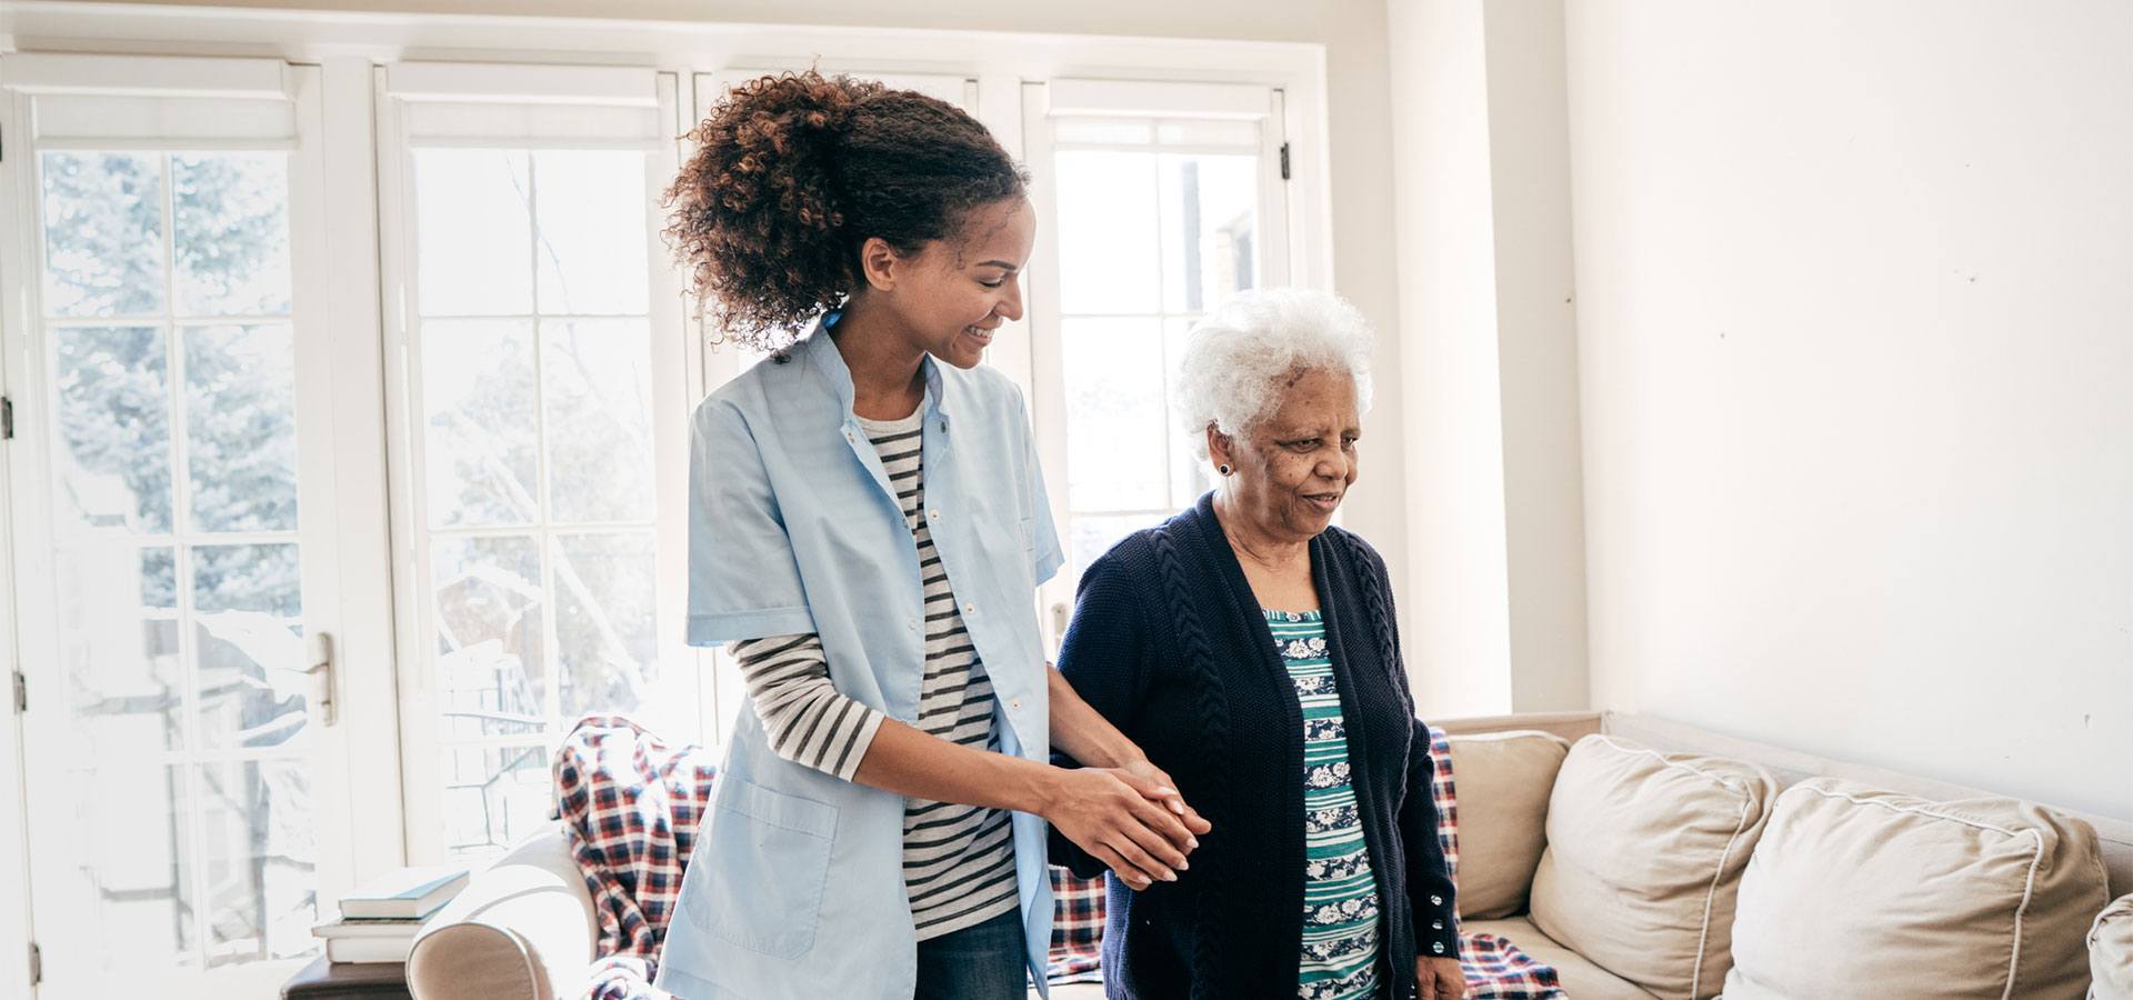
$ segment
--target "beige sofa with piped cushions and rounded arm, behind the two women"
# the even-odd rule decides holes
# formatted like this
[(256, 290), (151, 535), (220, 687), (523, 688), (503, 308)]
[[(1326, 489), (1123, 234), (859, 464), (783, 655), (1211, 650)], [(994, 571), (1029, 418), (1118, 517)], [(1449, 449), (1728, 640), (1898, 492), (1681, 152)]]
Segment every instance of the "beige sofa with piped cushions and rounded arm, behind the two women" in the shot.
[[(1440, 725), (1465, 930), (1553, 964), (1574, 1000), (2080, 998), (2090, 921), (2133, 893), (2127, 821), (1649, 716)], [(550, 825), (424, 928), (407, 979), (418, 1000), (576, 998), (595, 938)]]

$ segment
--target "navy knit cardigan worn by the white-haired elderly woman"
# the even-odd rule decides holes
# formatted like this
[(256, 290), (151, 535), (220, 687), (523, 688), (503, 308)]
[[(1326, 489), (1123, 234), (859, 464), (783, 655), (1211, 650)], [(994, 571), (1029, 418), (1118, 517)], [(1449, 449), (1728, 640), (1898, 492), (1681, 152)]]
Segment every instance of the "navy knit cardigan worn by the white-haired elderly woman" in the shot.
[[(1113, 1000), (1297, 996), (1303, 714), (1212, 497), (1092, 563), (1060, 646), (1075, 691), (1214, 823), (1175, 883), (1130, 891), (1109, 878), (1103, 979)], [(1459, 953), (1429, 729), (1408, 695), (1384, 561), (1342, 529), (1310, 552), (1378, 874), (1380, 981), (1408, 1000), (1416, 953)], [(1084, 878), (1105, 870), (1056, 829), (1052, 861)]]

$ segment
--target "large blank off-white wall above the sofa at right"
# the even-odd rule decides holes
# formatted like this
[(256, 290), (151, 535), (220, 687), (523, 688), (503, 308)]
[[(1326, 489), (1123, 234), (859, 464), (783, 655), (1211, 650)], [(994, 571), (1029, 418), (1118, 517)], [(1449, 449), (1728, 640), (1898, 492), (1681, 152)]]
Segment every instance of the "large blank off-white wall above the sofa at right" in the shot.
[(2133, 6), (1578, 0), (1593, 695), (2133, 817)]

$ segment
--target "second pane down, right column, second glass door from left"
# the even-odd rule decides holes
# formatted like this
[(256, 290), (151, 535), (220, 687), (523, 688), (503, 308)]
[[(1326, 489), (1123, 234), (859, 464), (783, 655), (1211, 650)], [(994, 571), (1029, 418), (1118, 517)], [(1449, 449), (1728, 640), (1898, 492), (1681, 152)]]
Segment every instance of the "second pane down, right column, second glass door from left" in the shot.
[(542, 375), (550, 520), (651, 520), (657, 493), (648, 324), (544, 322)]

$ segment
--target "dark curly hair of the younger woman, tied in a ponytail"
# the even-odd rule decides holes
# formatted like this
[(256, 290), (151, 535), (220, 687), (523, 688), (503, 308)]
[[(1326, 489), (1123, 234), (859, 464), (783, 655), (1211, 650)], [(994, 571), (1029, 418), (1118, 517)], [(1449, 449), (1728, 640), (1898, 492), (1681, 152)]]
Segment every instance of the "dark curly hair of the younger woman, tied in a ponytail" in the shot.
[(868, 239), (915, 254), (1028, 183), (962, 109), (813, 70), (734, 87), (689, 139), (665, 237), (697, 301), (757, 350), (836, 309)]

